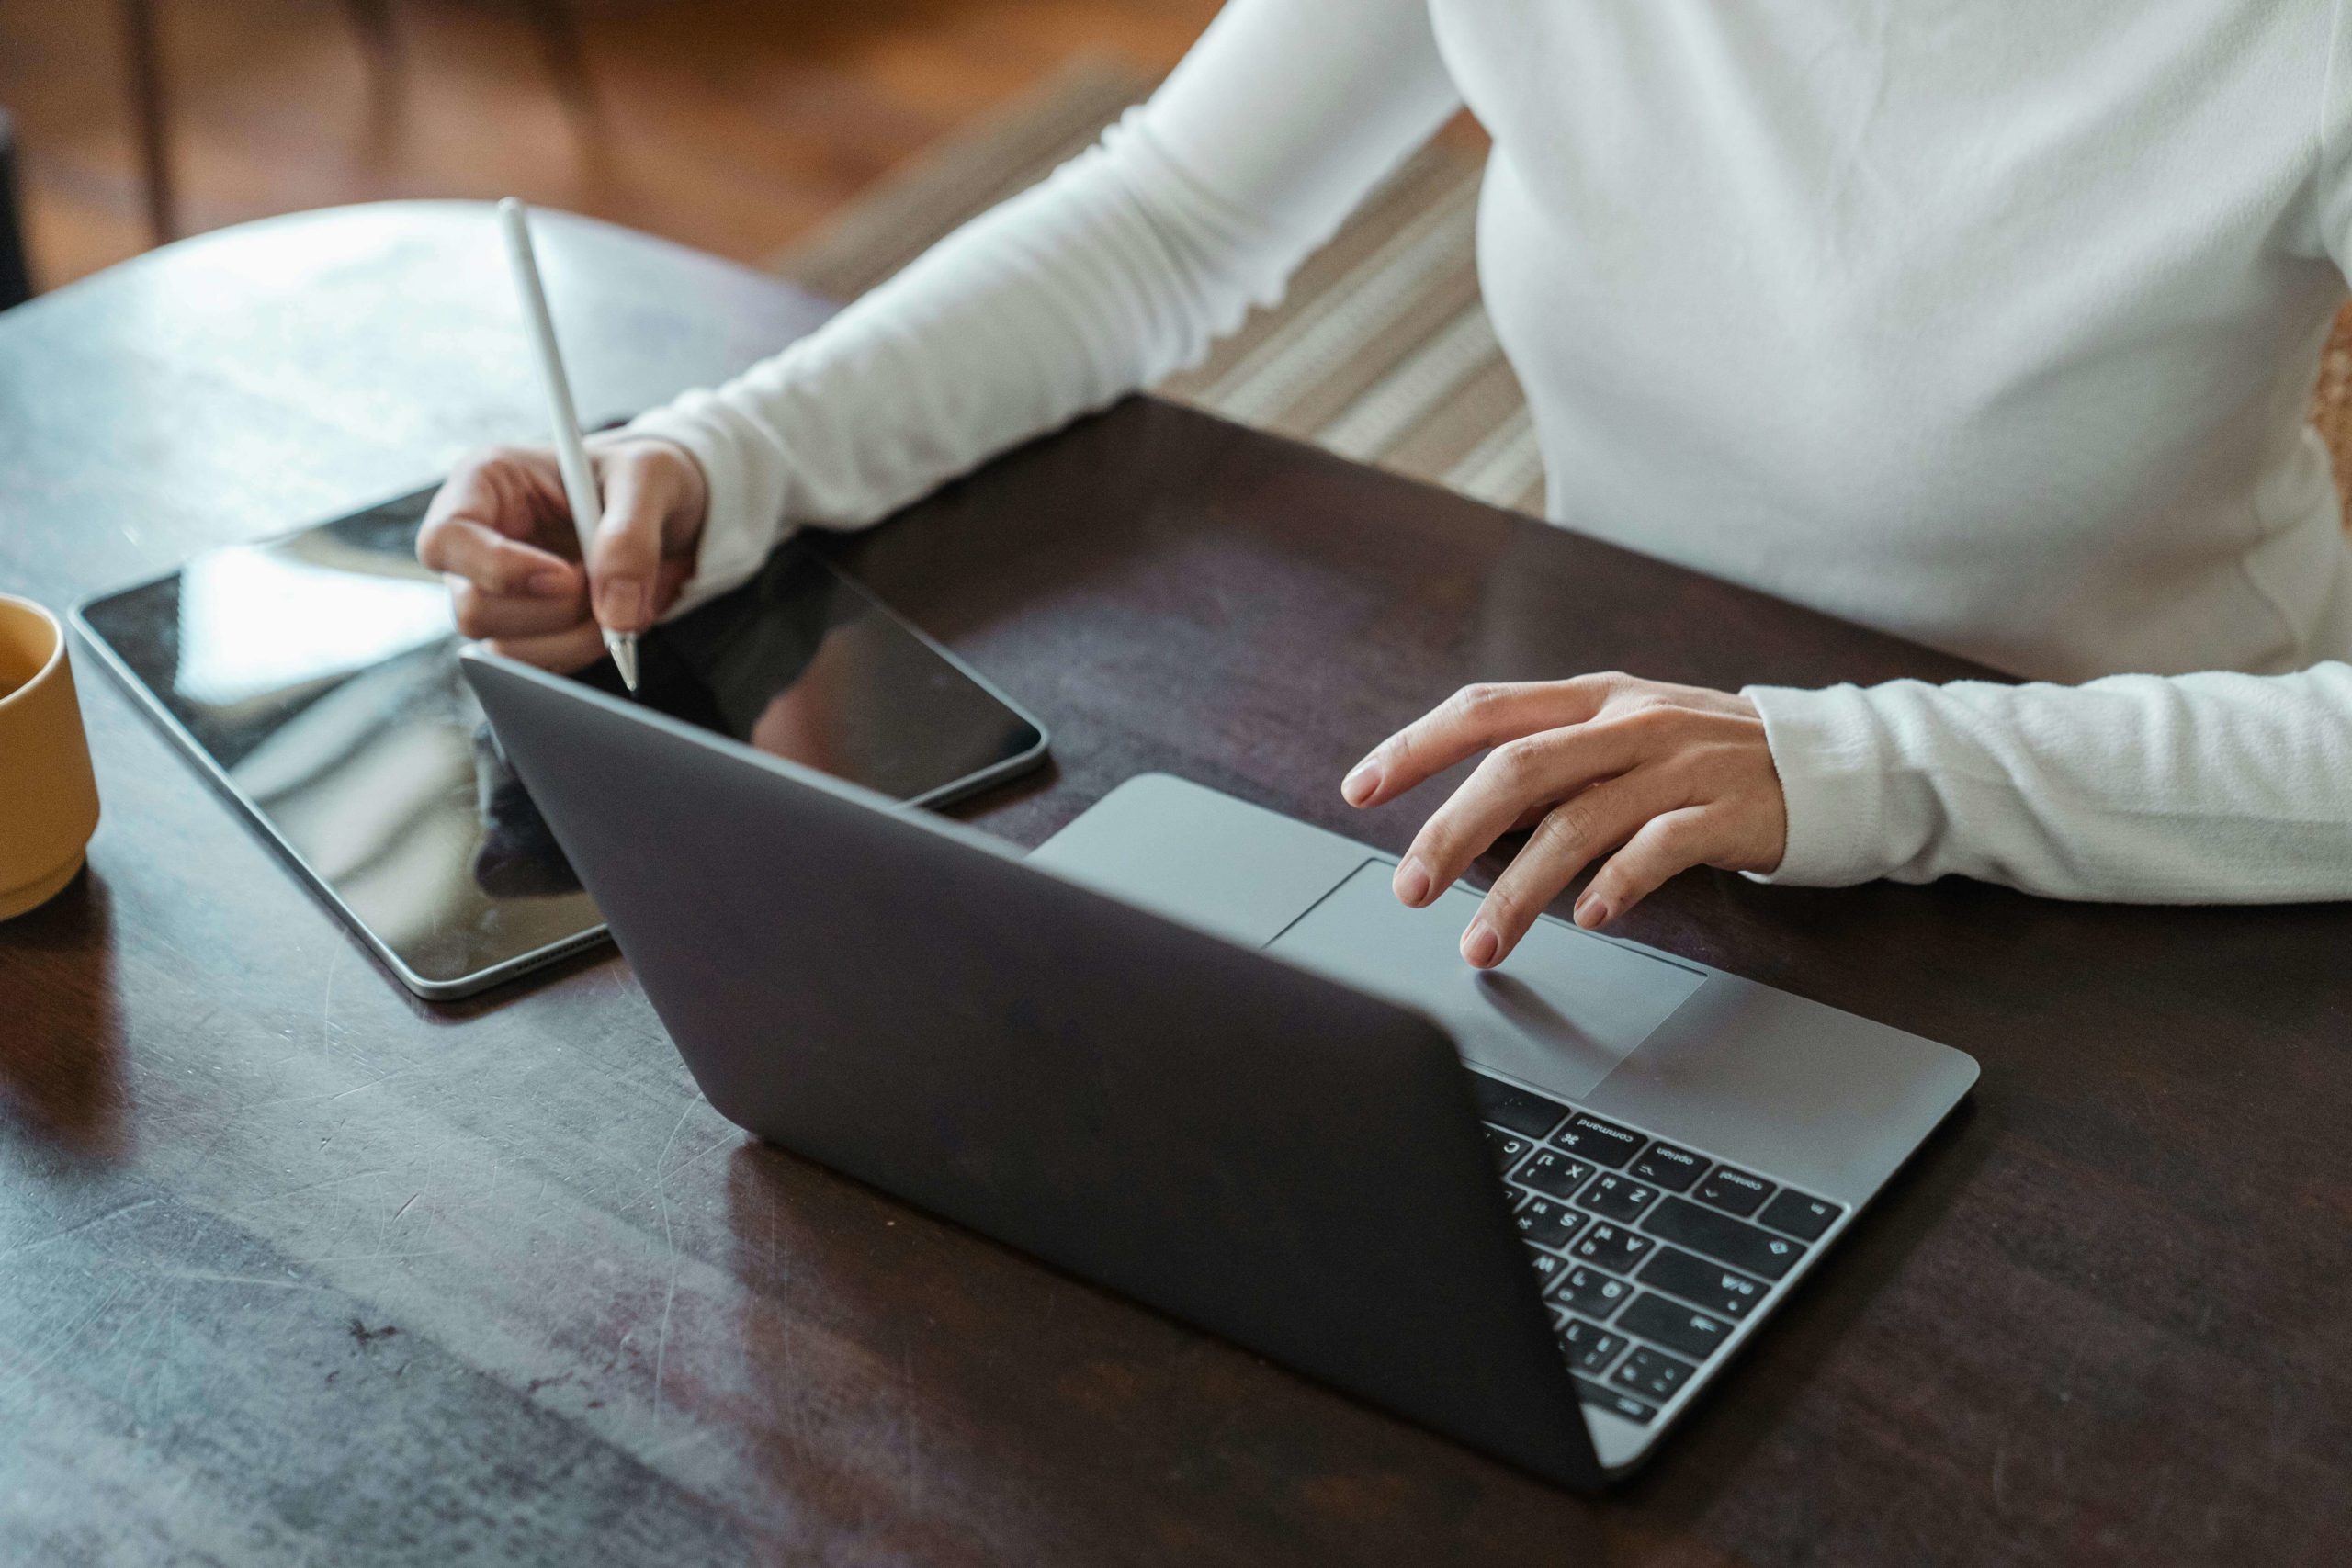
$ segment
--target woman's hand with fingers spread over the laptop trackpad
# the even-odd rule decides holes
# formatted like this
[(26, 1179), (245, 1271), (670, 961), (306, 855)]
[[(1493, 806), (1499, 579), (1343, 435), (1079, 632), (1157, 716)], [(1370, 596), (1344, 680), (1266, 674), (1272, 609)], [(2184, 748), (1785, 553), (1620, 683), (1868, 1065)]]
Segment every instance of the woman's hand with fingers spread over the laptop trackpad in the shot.
[(1576, 900), (1588, 931), (1679, 870), (1769, 872), (1788, 846), (1788, 804), (1755, 703), (1630, 675), (1463, 686), (1355, 764), (1341, 795), (1378, 806), (1482, 750), (1486, 759), (1423, 823), (1395, 879), (1397, 898), (1418, 910), (1498, 837), (1534, 827), (1463, 931), (1463, 957), (1479, 969), (1501, 964), (1609, 849)]

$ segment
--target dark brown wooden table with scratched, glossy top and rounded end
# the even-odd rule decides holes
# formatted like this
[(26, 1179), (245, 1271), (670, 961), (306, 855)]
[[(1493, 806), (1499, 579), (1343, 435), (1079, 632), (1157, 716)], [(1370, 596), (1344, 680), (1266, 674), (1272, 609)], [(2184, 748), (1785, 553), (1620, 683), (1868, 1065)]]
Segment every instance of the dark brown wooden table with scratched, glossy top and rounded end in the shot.
[[(821, 308), (543, 252), (588, 411)], [(536, 425), (482, 209), (172, 247), (0, 317), (0, 588), (64, 604)], [(1470, 677), (1947, 658), (1155, 402), (844, 557), (1047, 717), (1033, 844), (1336, 780)], [(1583, 1500), (713, 1114), (616, 957), (400, 992), (80, 663), (92, 870), (0, 926), (0, 1561), (2296, 1563), (2352, 1556), (2352, 912), (1682, 877), (1630, 933), (1976, 1053), (1738, 1378)]]

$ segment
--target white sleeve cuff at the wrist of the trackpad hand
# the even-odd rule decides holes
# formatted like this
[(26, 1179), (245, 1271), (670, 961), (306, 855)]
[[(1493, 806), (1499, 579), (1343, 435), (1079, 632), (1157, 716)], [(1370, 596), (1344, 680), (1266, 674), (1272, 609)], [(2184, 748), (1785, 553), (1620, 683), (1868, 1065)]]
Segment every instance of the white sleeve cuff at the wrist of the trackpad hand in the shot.
[(1745, 686), (1740, 696), (1764, 719), (1764, 743), (1788, 802), (1780, 865), (1748, 877), (1790, 886), (1851, 886), (1884, 877), (1886, 759), (1863, 691)]

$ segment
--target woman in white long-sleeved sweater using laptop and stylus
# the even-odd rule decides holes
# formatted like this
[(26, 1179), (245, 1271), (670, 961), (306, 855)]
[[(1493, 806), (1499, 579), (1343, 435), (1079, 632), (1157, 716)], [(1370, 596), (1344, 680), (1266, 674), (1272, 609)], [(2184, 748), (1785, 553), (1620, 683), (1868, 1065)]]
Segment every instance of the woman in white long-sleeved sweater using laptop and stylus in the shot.
[[(1689, 865), (2060, 898), (2352, 896), (2352, 552), (2303, 423), (2352, 259), (2352, 0), (1232, 0), (1047, 186), (602, 447), (588, 578), (539, 454), (421, 536), (546, 663), (1195, 362), (1458, 106), (1550, 473), (1618, 543), (2039, 684), (1470, 689), (1341, 790), (1479, 750), (1423, 905), (1604, 926)], [(1609, 853), (1613, 849), (1613, 853)]]

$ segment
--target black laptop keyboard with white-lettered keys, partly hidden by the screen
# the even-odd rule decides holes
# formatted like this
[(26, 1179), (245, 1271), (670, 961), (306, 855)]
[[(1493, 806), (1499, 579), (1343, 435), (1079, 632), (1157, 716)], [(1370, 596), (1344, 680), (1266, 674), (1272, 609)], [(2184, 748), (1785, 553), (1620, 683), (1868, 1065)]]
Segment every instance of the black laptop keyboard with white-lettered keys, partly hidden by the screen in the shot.
[(1512, 1220), (1585, 1403), (1649, 1425), (1844, 1206), (1470, 1074)]

